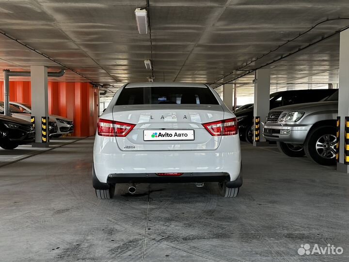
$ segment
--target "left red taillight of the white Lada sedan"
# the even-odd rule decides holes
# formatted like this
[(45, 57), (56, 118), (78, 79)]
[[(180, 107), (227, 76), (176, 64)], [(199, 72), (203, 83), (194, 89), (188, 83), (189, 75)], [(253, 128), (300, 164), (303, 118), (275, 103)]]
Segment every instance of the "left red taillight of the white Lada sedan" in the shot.
[(100, 136), (125, 137), (135, 126), (134, 124), (99, 118), (97, 132)]

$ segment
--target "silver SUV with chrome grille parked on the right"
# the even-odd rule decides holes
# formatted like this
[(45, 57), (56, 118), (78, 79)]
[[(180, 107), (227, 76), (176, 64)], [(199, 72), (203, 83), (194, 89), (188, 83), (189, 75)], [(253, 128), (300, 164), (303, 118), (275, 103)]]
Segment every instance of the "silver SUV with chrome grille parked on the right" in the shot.
[(322, 165), (336, 163), (338, 92), (320, 102), (282, 106), (271, 110), (263, 136), (277, 141), (290, 157), (306, 155)]

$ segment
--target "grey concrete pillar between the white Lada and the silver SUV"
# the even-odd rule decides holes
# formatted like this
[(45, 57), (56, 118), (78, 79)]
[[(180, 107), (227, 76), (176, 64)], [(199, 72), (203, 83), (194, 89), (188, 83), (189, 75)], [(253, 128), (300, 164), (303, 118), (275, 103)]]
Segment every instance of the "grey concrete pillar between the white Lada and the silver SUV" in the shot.
[[(254, 79), (254, 117), (260, 117), (259, 142), (254, 146), (265, 146), (266, 139), (263, 137), (263, 125), (266, 122), (270, 106), (270, 68), (261, 68), (255, 71)], [(255, 137), (255, 132), (254, 132)]]

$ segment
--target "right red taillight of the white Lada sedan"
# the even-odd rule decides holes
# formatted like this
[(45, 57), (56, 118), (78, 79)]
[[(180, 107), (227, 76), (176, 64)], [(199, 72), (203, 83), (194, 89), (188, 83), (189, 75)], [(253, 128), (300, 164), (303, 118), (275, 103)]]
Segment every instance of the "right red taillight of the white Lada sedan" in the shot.
[(213, 136), (235, 135), (238, 133), (238, 121), (235, 117), (206, 123), (203, 126)]

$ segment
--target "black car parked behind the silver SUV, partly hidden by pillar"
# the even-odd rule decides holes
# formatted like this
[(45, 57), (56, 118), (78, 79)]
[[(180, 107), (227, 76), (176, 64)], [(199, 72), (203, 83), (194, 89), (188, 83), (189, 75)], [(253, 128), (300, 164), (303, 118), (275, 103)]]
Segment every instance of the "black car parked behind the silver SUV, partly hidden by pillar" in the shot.
[[(279, 106), (318, 102), (331, 96), (337, 89), (288, 90), (270, 94), (270, 109)], [(240, 140), (253, 142), (254, 107), (236, 111)], [(261, 119), (261, 122), (262, 121)]]

